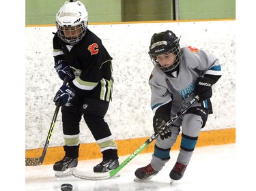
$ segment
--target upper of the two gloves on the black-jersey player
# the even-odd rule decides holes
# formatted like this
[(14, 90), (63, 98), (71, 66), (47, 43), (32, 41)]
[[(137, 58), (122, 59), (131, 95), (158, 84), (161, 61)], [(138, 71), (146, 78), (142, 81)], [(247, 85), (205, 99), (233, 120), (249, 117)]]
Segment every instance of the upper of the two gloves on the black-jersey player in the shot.
[(70, 68), (70, 66), (66, 63), (65, 60), (59, 60), (57, 63), (55, 63), (54, 66), (55, 70), (57, 71), (59, 78), (61, 80), (64, 80), (64, 77), (68, 76), (68, 81), (74, 79), (74, 72)]

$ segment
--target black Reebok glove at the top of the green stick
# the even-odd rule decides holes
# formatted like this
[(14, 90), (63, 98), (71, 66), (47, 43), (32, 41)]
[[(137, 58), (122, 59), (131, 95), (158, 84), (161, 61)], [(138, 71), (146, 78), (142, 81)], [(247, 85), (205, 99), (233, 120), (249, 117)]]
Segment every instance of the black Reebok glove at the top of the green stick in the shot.
[(199, 96), (199, 101), (204, 101), (212, 97), (213, 80), (207, 77), (198, 77), (195, 83), (195, 95)]

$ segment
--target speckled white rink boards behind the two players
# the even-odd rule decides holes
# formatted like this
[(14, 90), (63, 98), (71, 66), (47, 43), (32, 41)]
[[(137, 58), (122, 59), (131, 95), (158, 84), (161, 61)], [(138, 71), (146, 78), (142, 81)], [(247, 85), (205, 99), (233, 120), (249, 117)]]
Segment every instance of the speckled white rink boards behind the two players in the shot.
[[(153, 133), (150, 86), (153, 68), (148, 47), (154, 33), (171, 30), (181, 36), (181, 46), (195, 46), (221, 61), (223, 76), (214, 85), (214, 114), (203, 131), (235, 127), (236, 21), (164, 22), (89, 25), (113, 57), (113, 101), (106, 114), (115, 139), (149, 137)], [(55, 27), (26, 27), (26, 149), (44, 147), (55, 111), (53, 97), (62, 81), (54, 69)], [(95, 142), (83, 118), (81, 143)], [(63, 145), (61, 113), (49, 146)]]

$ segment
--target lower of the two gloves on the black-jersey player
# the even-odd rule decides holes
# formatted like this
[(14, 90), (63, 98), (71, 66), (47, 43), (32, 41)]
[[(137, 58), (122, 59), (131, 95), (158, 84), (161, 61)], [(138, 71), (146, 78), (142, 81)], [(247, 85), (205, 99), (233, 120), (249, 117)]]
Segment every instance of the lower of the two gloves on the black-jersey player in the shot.
[(57, 103), (59, 101), (60, 105), (66, 105), (70, 100), (72, 100), (75, 96), (74, 90), (70, 88), (70, 86), (63, 85), (53, 98), (53, 101)]

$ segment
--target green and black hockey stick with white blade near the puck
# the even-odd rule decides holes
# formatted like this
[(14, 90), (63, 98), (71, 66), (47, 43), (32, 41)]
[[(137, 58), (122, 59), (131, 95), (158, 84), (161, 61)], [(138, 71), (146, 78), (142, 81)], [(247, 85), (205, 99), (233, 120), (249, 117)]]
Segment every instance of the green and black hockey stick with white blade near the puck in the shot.
[(135, 152), (133, 152), (124, 162), (122, 162), (119, 167), (116, 169), (113, 169), (112, 171), (106, 172), (106, 173), (88, 173), (84, 171), (79, 171), (79, 170), (72, 170), (72, 175), (75, 177), (79, 177), (81, 179), (91, 179), (91, 180), (101, 180), (101, 179), (109, 179), (111, 177), (114, 177), (121, 169), (123, 169), (130, 160), (132, 160), (137, 154), (139, 154), (142, 150), (147, 147), (147, 145), (150, 145), (154, 139), (156, 139), (163, 131), (165, 131), (165, 128), (173, 124), (177, 118), (180, 118), (183, 114), (188, 111), (188, 109), (198, 101), (199, 97), (194, 97), (187, 105), (185, 105), (175, 116), (173, 116), (166, 124), (165, 126), (162, 126), (161, 130), (158, 131), (157, 133), (154, 133), (143, 145), (141, 145)]

